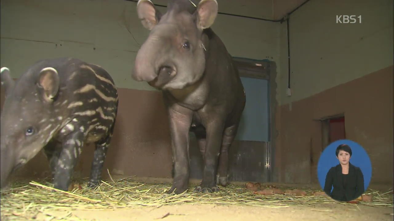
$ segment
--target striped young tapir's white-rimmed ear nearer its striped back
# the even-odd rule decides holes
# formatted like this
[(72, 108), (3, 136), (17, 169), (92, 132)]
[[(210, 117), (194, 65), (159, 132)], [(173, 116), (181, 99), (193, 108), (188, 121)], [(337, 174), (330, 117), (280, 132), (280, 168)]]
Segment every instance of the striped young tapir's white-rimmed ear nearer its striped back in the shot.
[(45, 100), (52, 101), (52, 98), (54, 98), (59, 91), (58, 71), (51, 67), (44, 68), (39, 74), (37, 84), (39, 87), (43, 88)]

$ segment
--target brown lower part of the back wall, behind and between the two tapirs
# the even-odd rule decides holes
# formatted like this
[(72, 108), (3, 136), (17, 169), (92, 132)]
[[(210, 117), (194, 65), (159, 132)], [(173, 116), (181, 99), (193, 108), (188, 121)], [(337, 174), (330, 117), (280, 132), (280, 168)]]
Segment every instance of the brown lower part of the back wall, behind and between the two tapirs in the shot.
[[(169, 125), (161, 92), (118, 88), (119, 110), (103, 178), (111, 174), (139, 177), (171, 177), (172, 157)], [(1, 90), (1, 106), (4, 92)], [(85, 146), (76, 171), (88, 177), (94, 146)], [(48, 161), (41, 151), (15, 175), (42, 178), (49, 173)]]

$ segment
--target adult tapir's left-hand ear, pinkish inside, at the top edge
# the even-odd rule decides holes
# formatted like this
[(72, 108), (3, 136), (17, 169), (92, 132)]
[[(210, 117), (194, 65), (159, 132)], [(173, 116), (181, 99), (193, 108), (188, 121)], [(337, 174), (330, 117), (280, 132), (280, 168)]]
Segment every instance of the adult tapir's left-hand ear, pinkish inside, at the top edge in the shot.
[(159, 23), (161, 13), (154, 8), (151, 0), (139, 0), (137, 3), (138, 18), (141, 19), (142, 25), (149, 30)]

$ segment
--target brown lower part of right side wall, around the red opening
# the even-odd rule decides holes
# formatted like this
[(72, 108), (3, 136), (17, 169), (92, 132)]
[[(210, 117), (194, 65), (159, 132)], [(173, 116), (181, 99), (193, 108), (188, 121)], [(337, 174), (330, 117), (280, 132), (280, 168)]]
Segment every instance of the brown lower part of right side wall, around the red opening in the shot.
[(318, 182), (316, 165), (324, 147), (322, 125), (314, 119), (340, 113), (346, 139), (370, 157), (371, 184), (393, 185), (393, 66), (277, 109), (279, 182)]

